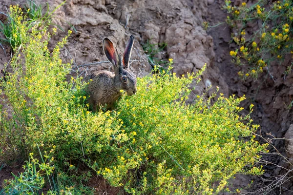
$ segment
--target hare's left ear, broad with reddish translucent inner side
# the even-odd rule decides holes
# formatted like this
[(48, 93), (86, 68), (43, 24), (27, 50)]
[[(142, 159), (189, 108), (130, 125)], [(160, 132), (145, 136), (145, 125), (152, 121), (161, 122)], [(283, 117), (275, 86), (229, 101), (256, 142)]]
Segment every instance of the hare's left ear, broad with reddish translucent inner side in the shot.
[(118, 55), (116, 47), (114, 46), (114, 43), (110, 39), (105, 38), (103, 40), (103, 49), (104, 49), (105, 56), (113, 64), (114, 71), (116, 72), (117, 69), (120, 70), (121, 59), (120, 59), (120, 56)]

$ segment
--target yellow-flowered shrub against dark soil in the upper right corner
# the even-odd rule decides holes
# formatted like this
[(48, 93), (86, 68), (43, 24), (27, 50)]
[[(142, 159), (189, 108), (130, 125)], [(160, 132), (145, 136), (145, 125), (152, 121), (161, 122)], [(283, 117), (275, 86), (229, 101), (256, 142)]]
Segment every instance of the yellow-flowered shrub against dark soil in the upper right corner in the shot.
[[(232, 61), (250, 67), (246, 72), (238, 73), (241, 78), (257, 78), (272, 61), (293, 54), (291, 0), (275, 1), (269, 5), (267, 0), (259, 0), (251, 6), (245, 2), (240, 6), (232, 6), (230, 0), (225, 2), (223, 7), (230, 13), (226, 21), (237, 32), (232, 35), (238, 45), (238, 49), (230, 51)], [(252, 22), (261, 25), (257, 31), (247, 35), (246, 27)], [(292, 65), (288, 66), (284, 74), (289, 74), (291, 68)]]

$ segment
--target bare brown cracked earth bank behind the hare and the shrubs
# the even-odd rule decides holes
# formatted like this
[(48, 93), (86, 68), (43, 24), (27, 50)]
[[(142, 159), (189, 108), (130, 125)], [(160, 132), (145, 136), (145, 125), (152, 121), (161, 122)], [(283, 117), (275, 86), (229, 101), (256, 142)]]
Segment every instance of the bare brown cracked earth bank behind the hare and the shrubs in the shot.
[[(58, 6), (63, 0), (38, 0), (45, 7), (49, 2), (50, 9)], [(247, 0), (245, 0), (247, 2)], [(235, 0), (240, 3), (242, 0)], [(4, 0), (0, 2), (0, 12), (6, 13), (10, 4), (23, 5), (24, 0)], [(134, 52), (132, 53), (131, 69), (139, 77), (149, 74), (150, 65), (141, 45), (147, 40), (150, 43), (167, 43), (166, 55), (158, 55), (159, 58), (174, 59), (173, 71), (177, 75), (196, 72), (207, 63), (207, 70), (202, 76), (202, 81), (195, 86), (188, 102), (192, 103), (197, 94), (201, 95), (212, 84), (220, 87), (220, 92), (225, 96), (236, 94), (238, 97), (246, 95), (247, 100), (242, 103), (245, 109), (253, 103), (255, 105), (252, 117), (261, 128), (258, 134), (264, 138), (284, 137), (292, 123), (293, 111), (287, 106), (293, 99), (293, 73), (285, 79), (281, 73), (286, 65), (291, 63), (285, 60), (282, 64), (272, 65), (270, 72), (265, 73), (257, 81), (241, 81), (237, 72), (241, 68), (230, 62), (229, 52), (235, 45), (229, 45), (230, 28), (223, 24), (210, 29), (203, 29), (202, 22), (207, 20), (211, 24), (222, 22), (227, 15), (221, 10), (224, 0), (67, 0), (66, 3), (55, 12), (53, 23), (61, 26), (64, 32), (58, 30), (57, 35), (50, 41), (49, 49), (60, 41), (67, 30), (73, 31), (68, 39), (68, 44), (63, 49), (64, 62), (73, 60), (72, 75), (86, 76), (96, 70), (109, 69), (109, 63), (97, 63), (106, 61), (102, 51), (102, 41), (108, 37), (118, 46), (122, 53), (126, 41), (130, 35), (135, 37)], [(247, 2), (251, 3), (250, 0)], [(0, 15), (0, 20), (5, 17)], [(251, 26), (249, 31), (253, 31)], [(10, 59), (10, 48), (4, 47), (6, 55), (0, 49), (0, 71)], [(9, 68), (9, 66), (8, 66)], [(78, 73), (76, 71), (78, 70)], [(0, 72), (0, 76), (3, 76)], [(2, 103), (2, 102), (1, 102)], [(247, 114), (245, 110), (243, 114)], [(272, 136), (268, 135), (271, 134)], [(264, 142), (262, 138), (260, 141)], [(286, 156), (285, 141), (272, 140), (272, 146)], [(274, 148), (270, 147), (271, 152)], [(276, 155), (264, 155), (264, 160), (274, 163), (264, 164), (264, 176), (236, 175), (231, 179), (234, 188), (244, 188), (242, 191), (255, 192), (268, 183), (284, 174), (285, 170), (279, 166), (287, 167), (283, 159)], [(0, 187), (3, 179), (10, 178), (10, 172), (21, 171), (18, 167), (3, 168), (0, 171)], [(251, 183), (251, 188), (247, 186)], [(101, 178), (92, 178), (89, 186), (95, 187), (98, 193), (117, 194), (119, 189), (111, 188)], [(232, 190), (232, 189), (231, 189)], [(272, 194), (289, 195), (293, 191), (292, 181), (284, 183), (281, 189), (276, 189)], [(225, 193), (224, 193), (225, 194)], [(260, 194), (256, 192), (254, 194)]]

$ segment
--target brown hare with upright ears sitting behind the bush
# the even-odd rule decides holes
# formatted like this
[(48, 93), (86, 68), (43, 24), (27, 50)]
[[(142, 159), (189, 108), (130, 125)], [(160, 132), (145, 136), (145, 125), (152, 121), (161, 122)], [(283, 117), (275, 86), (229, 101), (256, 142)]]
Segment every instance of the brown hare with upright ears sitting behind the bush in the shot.
[(133, 40), (131, 35), (124, 51), (123, 61), (113, 42), (107, 38), (103, 40), (103, 50), (113, 65), (114, 73), (97, 71), (88, 76), (90, 81), (86, 89), (89, 95), (87, 102), (93, 107), (93, 111), (105, 105), (107, 109), (112, 109), (114, 102), (122, 95), (121, 90), (126, 91), (128, 96), (137, 92), (136, 76), (129, 70)]

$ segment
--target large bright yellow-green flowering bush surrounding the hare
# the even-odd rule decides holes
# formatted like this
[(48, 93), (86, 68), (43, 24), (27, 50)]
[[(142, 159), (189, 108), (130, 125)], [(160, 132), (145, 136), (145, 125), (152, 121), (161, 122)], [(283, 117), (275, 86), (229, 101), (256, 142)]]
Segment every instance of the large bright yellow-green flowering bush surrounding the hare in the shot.
[[(45, 31), (33, 28), (23, 36), (13, 72), (0, 84), (12, 110), (11, 116), (1, 110), (0, 159), (41, 158), (49, 151), (54, 170), (44, 179), (54, 183), (52, 193), (89, 194), (86, 182), (98, 175), (129, 194), (216, 194), (236, 173), (262, 173), (253, 164), (266, 145), (253, 140), (258, 126), (250, 117), (239, 116), (245, 97), (220, 95), (211, 105), (215, 94), (198, 96), (186, 105), (188, 85), (202, 71), (178, 78), (169, 68), (138, 78), (137, 95), (124, 95), (112, 112), (92, 113), (87, 83), (65, 78), (70, 64), (59, 56), (67, 37), (50, 53)], [(16, 183), (8, 181), (5, 189)]]

